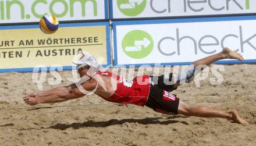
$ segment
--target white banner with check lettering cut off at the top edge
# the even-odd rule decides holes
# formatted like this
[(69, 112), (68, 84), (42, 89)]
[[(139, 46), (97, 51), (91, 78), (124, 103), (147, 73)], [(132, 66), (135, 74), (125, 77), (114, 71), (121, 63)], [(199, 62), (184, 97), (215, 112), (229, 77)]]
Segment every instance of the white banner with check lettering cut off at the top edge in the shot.
[(111, 0), (111, 18), (256, 13), (255, 0)]

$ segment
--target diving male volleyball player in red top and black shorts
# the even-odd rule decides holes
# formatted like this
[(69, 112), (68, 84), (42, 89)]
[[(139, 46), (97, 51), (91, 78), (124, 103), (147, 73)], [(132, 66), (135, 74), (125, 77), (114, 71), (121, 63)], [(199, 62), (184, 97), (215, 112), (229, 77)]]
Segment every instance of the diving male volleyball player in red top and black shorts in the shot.
[[(247, 122), (239, 116), (236, 110), (225, 112), (208, 106), (188, 105), (181, 101), (176, 95), (170, 94), (170, 91), (176, 90), (180, 83), (189, 82), (193, 79), (196, 67), (199, 65), (211, 65), (221, 59), (239, 59), (243, 56), (229, 48), (223, 49), (218, 54), (208, 56), (207, 58), (197, 60), (190, 65), (187, 70), (180, 73), (170, 73), (168, 76), (159, 76), (158, 81), (152, 80), (154, 76), (138, 76), (133, 81), (128, 82), (123, 77), (110, 72), (101, 72), (95, 67), (95, 58), (84, 54), (80, 60), (73, 62), (79, 66), (78, 73), (80, 77), (89, 76), (87, 81), (81, 83), (86, 91), (95, 90), (94, 94), (109, 102), (122, 104), (134, 104), (148, 106), (154, 111), (166, 114), (181, 114), (186, 116), (198, 117), (222, 117), (233, 120), (236, 123), (246, 124)], [(97, 64), (97, 63), (96, 63)], [(93, 68), (93, 72), (91, 72)], [(90, 72), (89, 72), (90, 71)], [(182, 74), (185, 74), (183, 77)], [(104, 85), (96, 80), (97, 77), (103, 80)], [(115, 84), (113, 84), (113, 81)], [(167, 85), (168, 81), (174, 81), (175, 84)], [(24, 97), (24, 102), (29, 105), (47, 104), (63, 102), (69, 99), (83, 97), (85, 94), (79, 90), (76, 84), (67, 87), (58, 87), (48, 91), (35, 92)]]

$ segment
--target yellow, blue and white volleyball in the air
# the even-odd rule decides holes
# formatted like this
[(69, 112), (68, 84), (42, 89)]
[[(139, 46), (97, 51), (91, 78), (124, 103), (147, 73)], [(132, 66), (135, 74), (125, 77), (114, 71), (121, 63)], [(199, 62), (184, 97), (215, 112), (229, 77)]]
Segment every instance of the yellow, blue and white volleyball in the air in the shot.
[(39, 23), (40, 29), (46, 34), (53, 34), (58, 30), (59, 22), (54, 15), (43, 16)]

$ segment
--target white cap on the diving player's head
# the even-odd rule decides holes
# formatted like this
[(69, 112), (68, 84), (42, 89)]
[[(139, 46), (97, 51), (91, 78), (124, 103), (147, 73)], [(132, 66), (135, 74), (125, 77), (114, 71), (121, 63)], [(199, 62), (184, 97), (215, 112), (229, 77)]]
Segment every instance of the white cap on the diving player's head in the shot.
[(89, 65), (97, 70), (99, 69), (97, 59), (90, 54), (83, 54), (79, 60), (74, 60), (73, 63), (75, 65)]

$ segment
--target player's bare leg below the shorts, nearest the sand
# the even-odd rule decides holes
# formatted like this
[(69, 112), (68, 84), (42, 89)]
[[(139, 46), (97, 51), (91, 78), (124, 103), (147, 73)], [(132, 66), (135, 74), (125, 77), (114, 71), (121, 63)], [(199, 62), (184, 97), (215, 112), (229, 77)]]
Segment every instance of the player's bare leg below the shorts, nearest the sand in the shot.
[(197, 117), (221, 117), (233, 120), (236, 123), (247, 124), (246, 120), (241, 119), (236, 110), (225, 112), (209, 108), (208, 106), (188, 105), (183, 101), (179, 102), (178, 114)]

